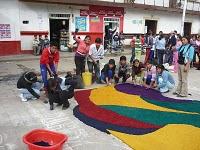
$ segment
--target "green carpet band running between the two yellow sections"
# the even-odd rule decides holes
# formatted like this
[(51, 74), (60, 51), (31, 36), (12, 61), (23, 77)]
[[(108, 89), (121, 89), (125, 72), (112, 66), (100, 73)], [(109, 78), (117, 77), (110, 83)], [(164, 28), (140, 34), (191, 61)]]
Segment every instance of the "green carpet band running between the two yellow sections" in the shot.
[(167, 124), (188, 124), (200, 127), (199, 114), (183, 114), (174, 112), (155, 111), (142, 108), (123, 107), (114, 105), (101, 105), (102, 108), (111, 110), (120, 115), (133, 118), (142, 122), (164, 126)]

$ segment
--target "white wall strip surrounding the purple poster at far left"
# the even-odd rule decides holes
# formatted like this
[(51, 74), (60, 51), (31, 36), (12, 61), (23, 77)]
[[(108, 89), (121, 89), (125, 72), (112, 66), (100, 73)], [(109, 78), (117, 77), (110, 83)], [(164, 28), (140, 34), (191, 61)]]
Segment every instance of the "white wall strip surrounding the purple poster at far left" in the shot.
[(0, 1), (0, 24), (10, 24), (11, 27), (11, 38), (0, 39), (0, 41), (20, 41), (18, 0)]

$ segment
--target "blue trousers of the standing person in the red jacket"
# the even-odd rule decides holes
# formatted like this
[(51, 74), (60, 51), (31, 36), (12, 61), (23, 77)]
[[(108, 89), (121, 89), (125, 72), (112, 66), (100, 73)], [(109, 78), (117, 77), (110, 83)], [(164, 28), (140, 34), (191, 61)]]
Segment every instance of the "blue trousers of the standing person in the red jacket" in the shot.
[[(51, 71), (54, 74), (56, 74), (54, 64), (51, 64), (49, 66), (50, 66)], [(49, 72), (49, 70), (47, 69), (47, 66), (45, 64), (40, 64), (40, 71), (41, 71), (41, 75), (42, 75), (42, 81), (44, 82), (44, 88), (47, 88), (47, 86), (48, 86), (47, 71)]]

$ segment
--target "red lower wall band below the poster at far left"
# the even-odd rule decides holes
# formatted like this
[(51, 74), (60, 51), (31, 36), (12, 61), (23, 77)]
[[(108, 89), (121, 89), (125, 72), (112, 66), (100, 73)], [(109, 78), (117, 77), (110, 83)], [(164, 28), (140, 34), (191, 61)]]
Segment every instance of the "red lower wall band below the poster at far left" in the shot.
[(0, 56), (20, 54), (20, 41), (0, 41)]

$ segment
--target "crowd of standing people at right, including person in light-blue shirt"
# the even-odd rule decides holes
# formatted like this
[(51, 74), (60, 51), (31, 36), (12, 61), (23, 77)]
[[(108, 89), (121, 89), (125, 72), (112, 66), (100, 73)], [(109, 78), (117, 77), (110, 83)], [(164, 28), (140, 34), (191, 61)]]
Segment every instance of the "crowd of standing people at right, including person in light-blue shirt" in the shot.
[[(132, 53), (135, 54), (135, 47), (133, 46), (133, 38), (131, 46)], [(140, 39), (142, 41), (142, 39)], [(142, 42), (141, 42), (142, 43)], [(160, 31), (158, 36), (153, 36), (150, 31), (144, 38), (142, 47), (146, 48), (146, 55), (144, 64), (151, 61), (155, 65), (169, 64), (173, 65), (174, 72), (178, 72), (178, 87), (176, 94), (178, 97), (186, 97), (188, 95), (187, 78), (190, 67), (194, 64), (197, 66), (197, 70), (200, 69), (200, 35), (189, 36), (177, 35), (177, 31), (170, 33), (168, 37), (165, 37), (163, 32)], [(133, 55), (134, 56), (134, 55)], [(132, 60), (134, 59), (132, 56)], [(198, 56), (198, 62), (196, 60)], [(131, 60), (131, 61), (132, 61)], [(160, 67), (163, 68), (163, 67)], [(170, 77), (171, 78), (171, 77)], [(169, 78), (169, 80), (171, 80)]]

